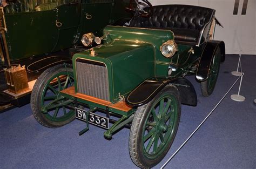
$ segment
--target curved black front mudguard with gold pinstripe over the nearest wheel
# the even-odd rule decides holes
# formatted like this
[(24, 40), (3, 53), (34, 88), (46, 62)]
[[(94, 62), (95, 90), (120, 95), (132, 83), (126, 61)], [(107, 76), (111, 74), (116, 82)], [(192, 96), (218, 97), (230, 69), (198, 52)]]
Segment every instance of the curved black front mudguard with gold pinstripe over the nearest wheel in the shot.
[(142, 106), (152, 100), (166, 85), (175, 85), (181, 96), (181, 104), (196, 106), (197, 94), (194, 86), (185, 78), (154, 77), (145, 80), (134, 89), (125, 101), (131, 106)]

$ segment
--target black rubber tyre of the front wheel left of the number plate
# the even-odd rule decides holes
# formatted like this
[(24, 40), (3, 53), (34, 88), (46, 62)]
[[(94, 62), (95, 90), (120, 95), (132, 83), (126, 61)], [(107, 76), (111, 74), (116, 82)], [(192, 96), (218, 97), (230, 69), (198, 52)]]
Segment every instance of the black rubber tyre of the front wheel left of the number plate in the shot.
[(66, 125), (73, 121), (75, 119), (75, 113), (71, 118), (65, 121), (51, 121), (48, 118), (45, 117), (45, 115), (41, 112), (41, 96), (43, 92), (44, 86), (47, 84), (48, 80), (51, 79), (54, 75), (56, 75), (58, 72), (63, 72), (66, 71), (66, 69), (69, 72), (73, 72), (72, 65), (71, 64), (66, 64), (66, 68), (64, 64), (59, 64), (56, 66), (52, 66), (49, 69), (46, 69), (37, 79), (35, 85), (33, 86), (33, 90), (31, 93), (31, 98), (30, 98), (30, 105), (32, 109), (33, 116), (35, 119), (40, 123), (41, 125), (49, 128), (56, 128), (60, 127), (63, 125)]

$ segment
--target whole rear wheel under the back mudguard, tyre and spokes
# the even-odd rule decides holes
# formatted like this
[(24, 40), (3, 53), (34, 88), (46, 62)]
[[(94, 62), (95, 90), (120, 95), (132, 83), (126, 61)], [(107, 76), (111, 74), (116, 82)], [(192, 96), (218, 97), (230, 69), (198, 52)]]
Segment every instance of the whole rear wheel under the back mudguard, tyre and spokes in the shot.
[(220, 69), (220, 55), (220, 48), (218, 47), (211, 62), (209, 77), (204, 82), (201, 82), (203, 96), (210, 96), (214, 90)]

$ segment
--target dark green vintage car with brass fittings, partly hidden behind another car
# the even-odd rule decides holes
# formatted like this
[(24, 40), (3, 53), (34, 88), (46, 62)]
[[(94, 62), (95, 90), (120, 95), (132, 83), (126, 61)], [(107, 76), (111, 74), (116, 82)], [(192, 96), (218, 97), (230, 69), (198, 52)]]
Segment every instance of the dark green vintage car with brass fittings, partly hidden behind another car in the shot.
[(129, 0), (6, 3), (0, 1), (0, 110), (29, 103), (37, 77), (51, 66), (72, 63), (72, 55), (83, 49), (84, 33), (101, 36), (106, 25), (123, 24), (131, 16), (125, 10)]

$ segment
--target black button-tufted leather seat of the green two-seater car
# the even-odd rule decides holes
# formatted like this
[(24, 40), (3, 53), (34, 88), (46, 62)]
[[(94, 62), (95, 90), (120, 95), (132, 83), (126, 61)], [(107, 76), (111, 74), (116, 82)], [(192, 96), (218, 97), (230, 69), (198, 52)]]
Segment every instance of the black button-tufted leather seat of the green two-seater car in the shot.
[(192, 5), (158, 5), (153, 8), (151, 17), (133, 18), (129, 26), (168, 29), (173, 31), (177, 43), (197, 45), (207, 38), (215, 13), (213, 9)]

